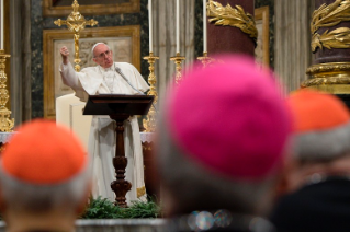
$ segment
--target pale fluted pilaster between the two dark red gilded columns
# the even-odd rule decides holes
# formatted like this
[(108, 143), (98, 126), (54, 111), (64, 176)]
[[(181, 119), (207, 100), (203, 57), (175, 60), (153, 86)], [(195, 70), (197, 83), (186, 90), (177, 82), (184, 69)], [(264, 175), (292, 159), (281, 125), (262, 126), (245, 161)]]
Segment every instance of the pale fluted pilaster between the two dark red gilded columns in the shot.
[(312, 63), (309, 22), (312, 0), (278, 0), (275, 9), (274, 68), (286, 92), (300, 89)]

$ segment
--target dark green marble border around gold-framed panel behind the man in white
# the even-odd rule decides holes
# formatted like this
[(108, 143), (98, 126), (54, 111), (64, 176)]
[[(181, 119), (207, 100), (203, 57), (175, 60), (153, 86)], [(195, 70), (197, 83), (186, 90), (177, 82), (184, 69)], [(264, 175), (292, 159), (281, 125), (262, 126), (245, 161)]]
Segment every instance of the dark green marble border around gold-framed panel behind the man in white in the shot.
[[(128, 14), (95, 15), (100, 27), (140, 25), (140, 57), (148, 55), (148, 10), (147, 0), (140, 0), (140, 12)], [(31, 86), (32, 118), (43, 117), (43, 30), (58, 28), (58, 18), (43, 18), (42, 0), (31, 1)], [(91, 19), (91, 16), (86, 16)], [(63, 28), (67, 30), (67, 28)], [(142, 59), (142, 74), (147, 79), (148, 63)]]

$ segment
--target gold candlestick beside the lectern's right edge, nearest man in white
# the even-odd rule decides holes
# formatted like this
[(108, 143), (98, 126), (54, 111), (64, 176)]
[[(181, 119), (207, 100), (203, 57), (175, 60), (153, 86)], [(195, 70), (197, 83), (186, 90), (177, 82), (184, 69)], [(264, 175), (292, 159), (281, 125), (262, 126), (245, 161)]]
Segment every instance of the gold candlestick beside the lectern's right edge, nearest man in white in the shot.
[(149, 76), (148, 76), (148, 83), (149, 83), (149, 91), (147, 95), (154, 95), (155, 101), (153, 106), (150, 107), (148, 115), (146, 116), (147, 119), (144, 119), (144, 127), (146, 128), (146, 132), (154, 132), (156, 129), (156, 108), (154, 105), (158, 102), (158, 93), (156, 89), (157, 78), (155, 76), (155, 62), (159, 57), (154, 56), (154, 53), (149, 53), (149, 56), (144, 57), (149, 63)]

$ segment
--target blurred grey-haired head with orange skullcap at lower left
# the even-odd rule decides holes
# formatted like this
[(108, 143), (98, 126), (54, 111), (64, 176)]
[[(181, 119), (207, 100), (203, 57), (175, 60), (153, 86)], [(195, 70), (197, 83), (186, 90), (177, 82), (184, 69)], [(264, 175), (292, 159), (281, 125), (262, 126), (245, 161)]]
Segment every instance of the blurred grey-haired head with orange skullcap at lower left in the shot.
[(55, 121), (24, 124), (0, 156), (0, 209), (8, 231), (71, 231), (90, 190), (88, 155)]

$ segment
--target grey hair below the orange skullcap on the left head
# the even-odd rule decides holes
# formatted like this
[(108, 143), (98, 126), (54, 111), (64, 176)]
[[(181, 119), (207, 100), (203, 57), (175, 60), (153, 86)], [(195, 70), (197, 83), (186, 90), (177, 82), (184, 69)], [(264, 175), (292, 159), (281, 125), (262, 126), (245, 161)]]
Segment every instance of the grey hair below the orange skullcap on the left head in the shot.
[(7, 207), (15, 211), (43, 213), (53, 209), (77, 210), (91, 183), (88, 165), (67, 182), (52, 185), (25, 183), (0, 169), (1, 196)]

